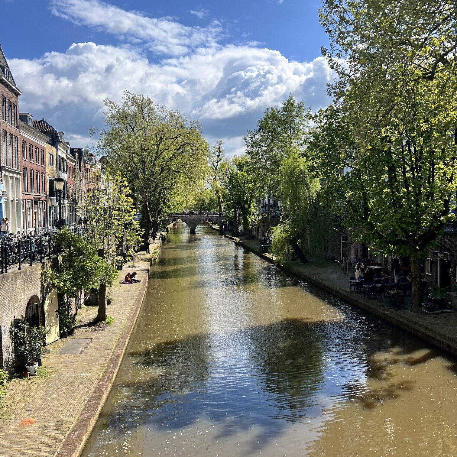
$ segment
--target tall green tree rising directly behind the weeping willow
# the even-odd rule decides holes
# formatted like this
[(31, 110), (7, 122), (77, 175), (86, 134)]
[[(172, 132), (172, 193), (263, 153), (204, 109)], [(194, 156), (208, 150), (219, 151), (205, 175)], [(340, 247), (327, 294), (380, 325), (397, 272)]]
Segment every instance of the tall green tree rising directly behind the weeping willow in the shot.
[(303, 101), (297, 102), (290, 95), (282, 106), (267, 108), (257, 122), (257, 128), (244, 137), (246, 154), (263, 183), (263, 193), (268, 198), (268, 227), (270, 221), (271, 193), (279, 190), (279, 169), (282, 160), (292, 149), (305, 147), (311, 112)]

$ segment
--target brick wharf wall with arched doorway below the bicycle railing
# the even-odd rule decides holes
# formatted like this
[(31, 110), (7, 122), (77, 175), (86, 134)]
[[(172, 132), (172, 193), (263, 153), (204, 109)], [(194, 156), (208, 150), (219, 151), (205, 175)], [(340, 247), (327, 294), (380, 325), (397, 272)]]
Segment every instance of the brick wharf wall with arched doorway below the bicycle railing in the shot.
[[(24, 265), (20, 271), (8, 271), (0, 274), (0, 325), (1, 325), (1, 358), (0, 367), (12, 373), (15, 370), (14, 354), (11, 350), (10, 324), (14, 318), (25, 316), (27, 303), (36, 299), (39, 303), (40, 323), (46, 328), (55, 327), (52, 319), (45, 319), (49, 298), (53, 297), (53, 306), (57, 308), (55, 290), (46, 290), (42, 284), (42, 271), (55, 266), (57, 259), (46, 260), (43, 263)], [(58, 315), (53, 310), (53, 319)], [(45, 322), (47, 320), (47, 322)], [(47, 339), (48, 342), (50, 342)]]

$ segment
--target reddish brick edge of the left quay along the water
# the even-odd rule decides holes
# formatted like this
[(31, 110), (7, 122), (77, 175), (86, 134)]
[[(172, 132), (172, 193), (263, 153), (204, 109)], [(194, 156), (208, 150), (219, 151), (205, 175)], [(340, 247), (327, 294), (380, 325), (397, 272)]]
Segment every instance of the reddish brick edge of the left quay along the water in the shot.
[[(158, 255), (158, 254), (157, 254)], [(156, 256), (157, 258), (157, 256)], [(152, 257), (151, 257), (152, 262)], [(98, 420), (101, 410), (105, 405), (111, 388), (116, 379), (117, 372), (121, 366), (122, 359), (127, 350), (128, 342), (133, 333), (136, 321), (138, 319), (146, 288), (149, 280), (149, 271), (143, 273), (142, 283), (133, 308), (128, 315), (125, 325), (117, 340), (116, 346), (108, 358), (106, 369), (97, 382), (96, 388), (91, 397), (87, 400), (84, 410), (74, 423), (69, 434), (61, 443), (54, 457), (79, 457), (84, 450), (84, 446)]]

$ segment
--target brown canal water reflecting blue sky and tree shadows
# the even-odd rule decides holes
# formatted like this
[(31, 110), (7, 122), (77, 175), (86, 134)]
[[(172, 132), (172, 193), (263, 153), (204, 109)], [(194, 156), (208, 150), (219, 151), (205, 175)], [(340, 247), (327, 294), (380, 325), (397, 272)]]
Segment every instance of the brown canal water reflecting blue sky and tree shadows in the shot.
[(456, 360), (180, 223), (85, 456), (457, 456)]

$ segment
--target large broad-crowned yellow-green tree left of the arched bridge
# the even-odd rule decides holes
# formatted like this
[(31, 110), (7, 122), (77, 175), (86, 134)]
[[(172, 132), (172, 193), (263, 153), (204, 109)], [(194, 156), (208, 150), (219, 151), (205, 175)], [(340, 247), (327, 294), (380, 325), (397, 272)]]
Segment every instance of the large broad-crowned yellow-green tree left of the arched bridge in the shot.
[(105, 104), (98, 147), (128, 180), (147, 241), (169, 208), (185, 202), (189, 187), (207, 175), (208, 144), (199, 122), (149, 97), (126, 91), (122, 105)]

